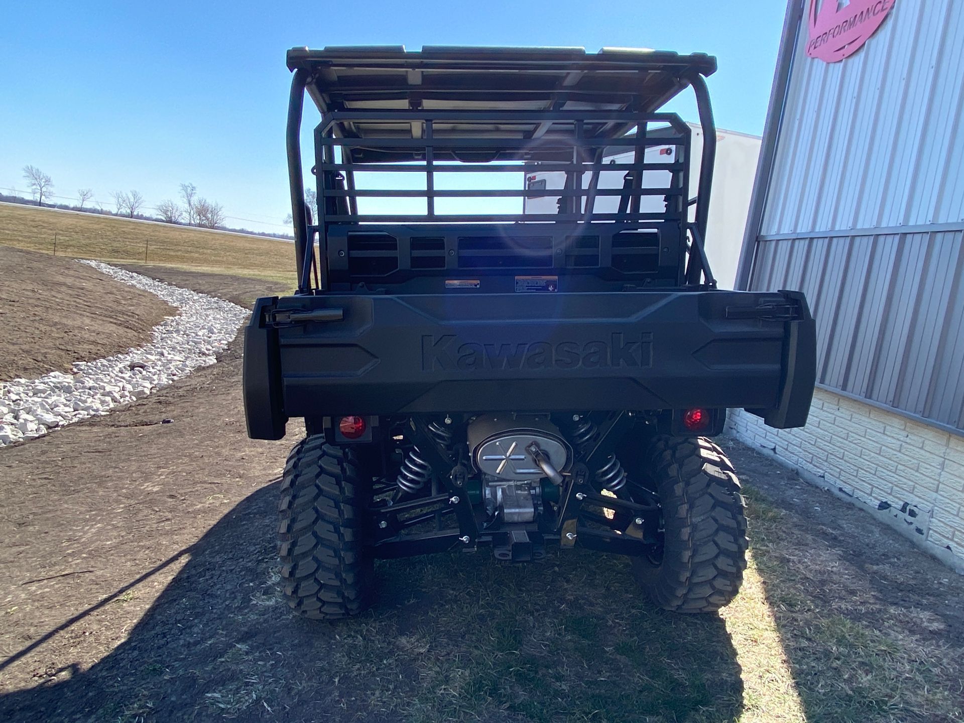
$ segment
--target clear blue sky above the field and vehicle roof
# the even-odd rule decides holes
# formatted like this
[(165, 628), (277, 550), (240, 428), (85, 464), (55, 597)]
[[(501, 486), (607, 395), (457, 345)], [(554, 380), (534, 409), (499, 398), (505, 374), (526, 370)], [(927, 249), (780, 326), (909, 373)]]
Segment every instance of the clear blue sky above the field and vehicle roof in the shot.
[[(154, 205), (194, 183), (228, 225), (283, 231), (294, 45), (603, 45), (717, 56), (719, 127), (760, 134), (785, 4), (779, 0), (588, 2), (4, 3), (0, 189), (40, 167), (54, 193)], [(671, 110), (696, 120), (685, 99)], [(316, 117), (306, 113), (306, 120)], [(9, 193), (9, 191), (4, 191)]]

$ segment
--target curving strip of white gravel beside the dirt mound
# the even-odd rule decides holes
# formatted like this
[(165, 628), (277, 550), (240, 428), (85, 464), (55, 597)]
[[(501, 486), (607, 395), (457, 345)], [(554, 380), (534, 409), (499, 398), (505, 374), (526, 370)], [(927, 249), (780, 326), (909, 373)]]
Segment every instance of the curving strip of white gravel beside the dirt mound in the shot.
[[(0, 382), (0, 446), (40, 437), (54, 427), (140, 399), (216, 362), (250, 311), (206, 294), (154, 281), (99, 261), (81, 261), (177, 308), (151, 330), (152, 341), (95, 362), (74, 362), (71, 374)], [(122, 314), (123, 309), (117, 309)], [(69, 313), (69, 311), (65, 311)]]

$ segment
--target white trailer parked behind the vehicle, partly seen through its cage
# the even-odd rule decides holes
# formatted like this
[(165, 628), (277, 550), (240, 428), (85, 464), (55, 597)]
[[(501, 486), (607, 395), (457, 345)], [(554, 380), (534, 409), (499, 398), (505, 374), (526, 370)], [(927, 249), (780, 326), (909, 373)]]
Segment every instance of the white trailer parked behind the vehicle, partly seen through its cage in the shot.
[[(696, 123), (687, 123), (692, 130), (692, 151), (689, 164), (689, 196), (696, 196), (700, 181), (700, 154), (703, 152), (703, 131)], [(646, 148), (645, 162), (660, 163), (671, 160), (673, 146), (651, 146)], [(633, 151), (606, 155), (607, 163), (631, 163)], [(706, 250), (713, 276), (721, 288), (733, 288), (736, 279), (736, 262), (743, 243), (743, 229), (750, 208), (750, 194), (757, 173), (757, 160), (760, 156), (760, 136), (737, 133), (732, 130), (716, 130), (716, 165), (713, 171), (713, 189), (710, 194), (710, 221), (707, 228)], [(668, 171), (646, 171), (643, 174), (644, 188), (665, 188), (669, 186)], [(583, 187), (589, 185), (589, 175), (583, 178)], [(523, 213), (556, 213), (558, 196), (553, 190), (562, 189), (566, 174), (561, 171), (536, 171), (525, 175), (525, 188), (528, 191), (546, 191), (545, 196), (523, 199)], [(600, 174), (599, 188), (622, 188), (623, 174), (604, 172)], [(601, 196), (596, 199), (596, 213), (615, 213), (619, 197)], [(660, 196), (643, 196), (640, 211), (663, 211)], [(584, 210), (584, 208), (583, 208)]]

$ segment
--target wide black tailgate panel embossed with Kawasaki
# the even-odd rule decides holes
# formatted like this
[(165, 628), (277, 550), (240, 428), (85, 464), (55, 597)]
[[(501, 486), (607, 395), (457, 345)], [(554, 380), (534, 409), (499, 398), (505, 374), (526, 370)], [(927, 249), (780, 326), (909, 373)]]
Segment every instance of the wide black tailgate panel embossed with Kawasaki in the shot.
[(244, 401), (254, 439), (301, 416), (688, 407), (786, 428), (815, 370), (794, 292), (331, 294), (258, 300)]

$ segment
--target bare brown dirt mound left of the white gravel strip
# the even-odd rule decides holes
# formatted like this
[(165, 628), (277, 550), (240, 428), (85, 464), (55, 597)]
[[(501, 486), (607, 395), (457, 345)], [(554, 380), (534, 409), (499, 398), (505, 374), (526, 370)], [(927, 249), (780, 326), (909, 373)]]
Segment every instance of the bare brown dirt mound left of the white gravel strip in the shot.
[(72, 259), (0, 246), (0, 381), (69, 372), (72, 362), (141, 346), (176, 313)]

